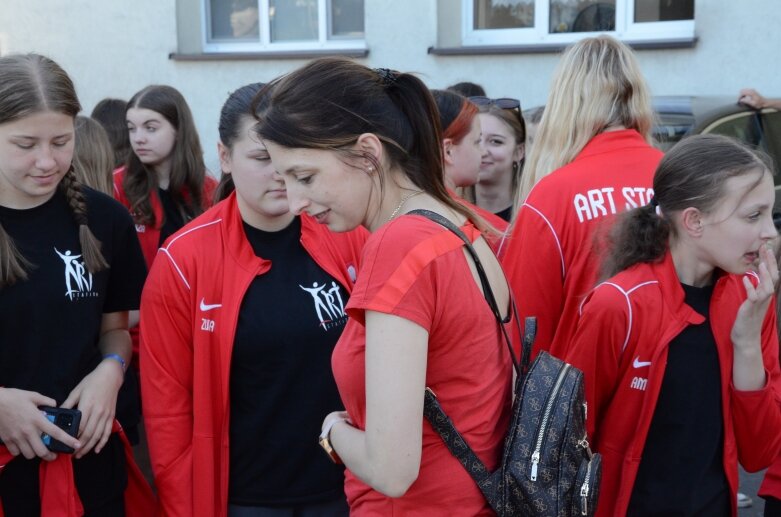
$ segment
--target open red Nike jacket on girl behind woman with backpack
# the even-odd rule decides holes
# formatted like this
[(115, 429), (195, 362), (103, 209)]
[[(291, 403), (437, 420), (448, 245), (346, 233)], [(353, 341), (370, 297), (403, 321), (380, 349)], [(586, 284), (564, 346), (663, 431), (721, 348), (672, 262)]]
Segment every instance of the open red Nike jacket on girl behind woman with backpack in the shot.
[[(368, 233), (331, 233), (303, 215), (301, 234), (312, 258), (351, 291)], [(172, 235), (149, 273), (141, 391), (164, 515), (227, 513), (231, 352), (244, 294), (269, 267), (247, 240), (234, 193)]]

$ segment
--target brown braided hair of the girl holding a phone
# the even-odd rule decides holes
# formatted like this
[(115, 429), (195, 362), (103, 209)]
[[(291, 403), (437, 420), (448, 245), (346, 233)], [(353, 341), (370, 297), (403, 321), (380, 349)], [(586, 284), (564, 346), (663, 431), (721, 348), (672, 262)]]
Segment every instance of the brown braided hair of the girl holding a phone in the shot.
[[(0, 124), (14, 122), (44, 111), (76, 118), (81, 104), (68, 74), (51, 59), (38, 55), (11, 55), (0, 58)], [(79, 227), (79, 243), (90, 273), (106, 267), (98, 241), (88, 226), (87, 206), (73, 166), (59, 184), (73, 218)], [(14, 245), (0, 225), (0, 288), (27, 279), (33, 265)]]

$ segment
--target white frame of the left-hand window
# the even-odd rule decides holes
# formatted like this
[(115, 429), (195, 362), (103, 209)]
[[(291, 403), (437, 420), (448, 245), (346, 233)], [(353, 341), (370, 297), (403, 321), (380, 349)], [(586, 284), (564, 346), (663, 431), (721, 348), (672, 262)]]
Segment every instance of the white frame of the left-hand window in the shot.
[[(210, 0), (199, 0), (201, 8), (201, 45), (205, 54), (222, 53), (257, 53), (257, 52), (311, 52), (311, 51), (363, 51), (366, 47), (366, 20), (364, 18), (364, 37), (332, 37), (329, 39), (332, 27), (330, 16), (331, 0), (317, 0), (318, 37), (309, 41), (271, 41), (271, 25), (269, 18), (269, 0), (258, 1), (258, 41), (209, 41), (211, 32)], [(365, 2), (364, 2), (365, 8)], [(364, 11), (365, 12), (365, 11)], [(365, 16), (365, 15), (364, 15)]]

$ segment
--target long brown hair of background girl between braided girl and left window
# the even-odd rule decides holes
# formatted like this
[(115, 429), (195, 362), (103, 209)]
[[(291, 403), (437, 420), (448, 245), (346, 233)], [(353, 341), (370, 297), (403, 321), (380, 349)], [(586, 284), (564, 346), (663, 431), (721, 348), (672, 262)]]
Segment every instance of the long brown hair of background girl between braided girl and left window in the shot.
[[(168, 192), (183, 220), (200, 215), (207, 202), (203, 199), (206, 165), (203, 162), (198, 130), (184, 97), (171, 86), (151, 85), (133, 95), (127, 103), (127, 109), (131, 108), (159, 113), (176, 130), (176, 139), (171, 150)], [(155, 171), (141, 163), (138, 156), (131, 152), (128, 155), (122, 188), (130, 201), (130, 211), (136, 222), (153, 226), (157, 223), (150, 198), (156, 195), (158, 185)]]

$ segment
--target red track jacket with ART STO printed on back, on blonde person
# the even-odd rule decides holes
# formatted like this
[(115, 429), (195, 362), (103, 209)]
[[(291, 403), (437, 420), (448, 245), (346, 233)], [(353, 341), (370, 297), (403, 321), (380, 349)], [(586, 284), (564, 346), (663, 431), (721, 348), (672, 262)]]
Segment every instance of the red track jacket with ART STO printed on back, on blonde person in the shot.
[[(520, 321), (537, 317), (535, 354), (566, 354), (578, 306), (597, 280), (595, 232), (615, 214), (648, 203), (661, 158), (662, 152), (633, 129), (601, 133), (529, 193), (502, 265)], [(520, 343), (520, 336), (515, 338)]]

